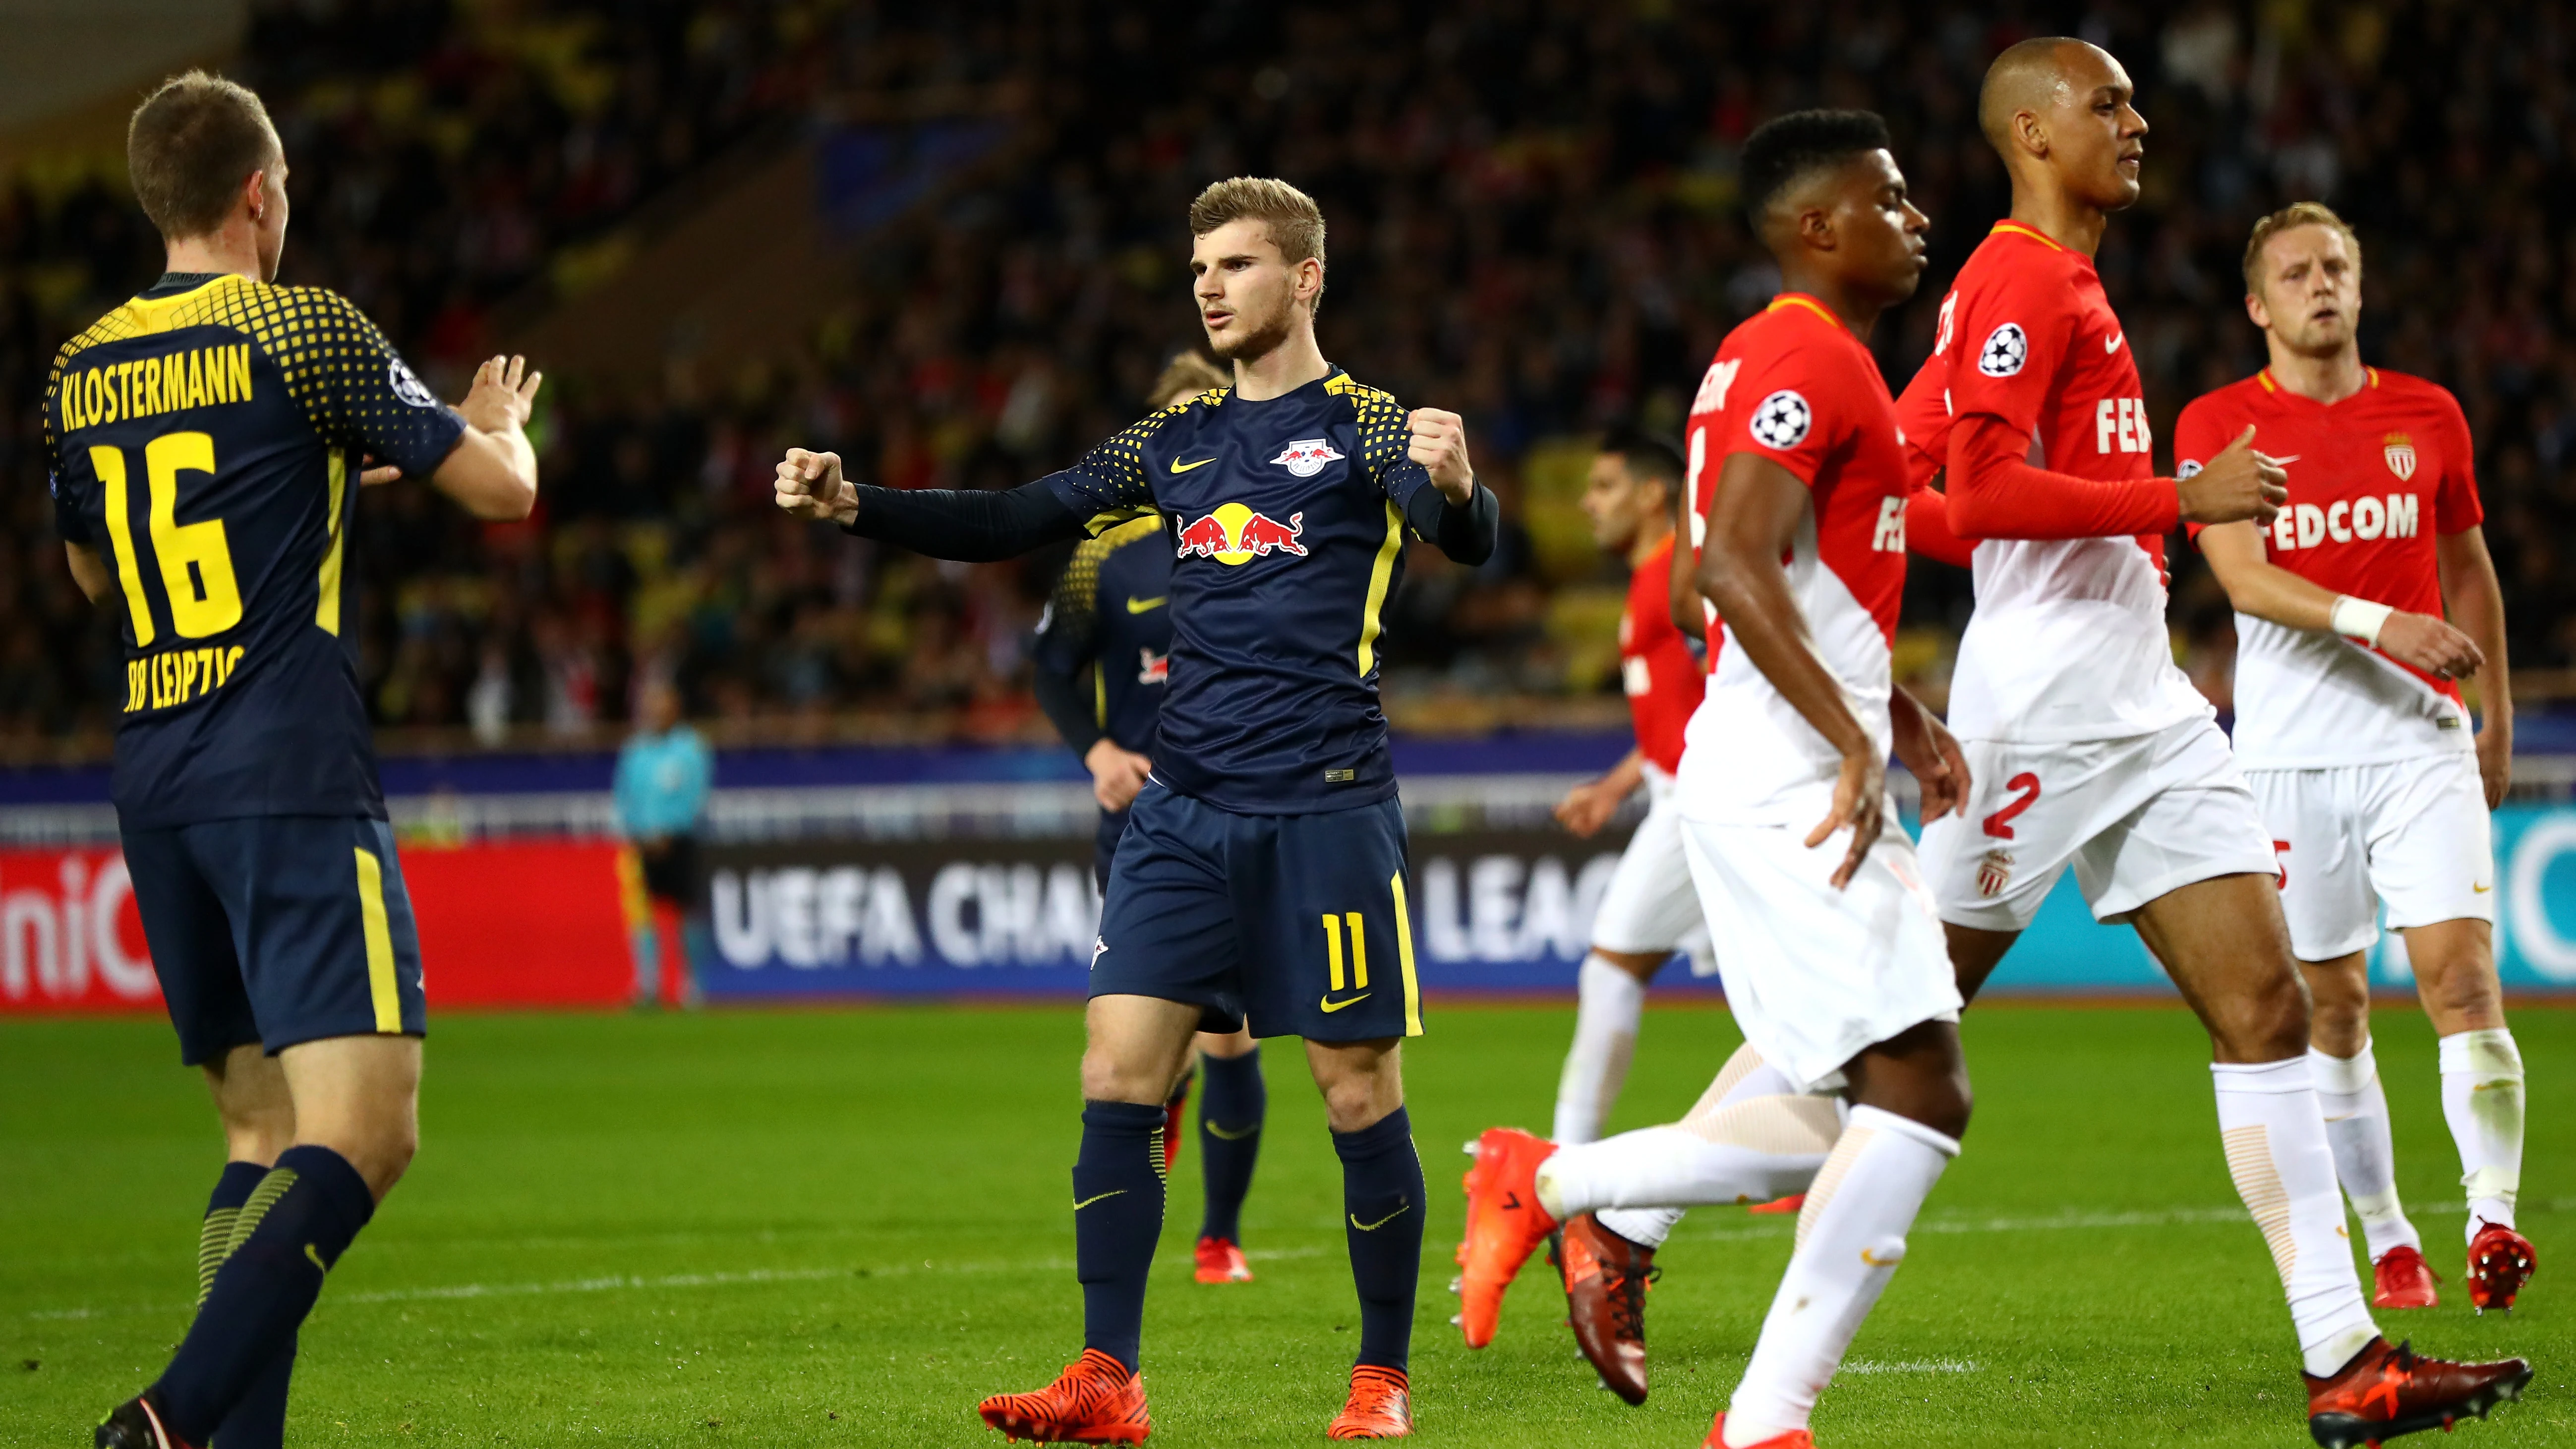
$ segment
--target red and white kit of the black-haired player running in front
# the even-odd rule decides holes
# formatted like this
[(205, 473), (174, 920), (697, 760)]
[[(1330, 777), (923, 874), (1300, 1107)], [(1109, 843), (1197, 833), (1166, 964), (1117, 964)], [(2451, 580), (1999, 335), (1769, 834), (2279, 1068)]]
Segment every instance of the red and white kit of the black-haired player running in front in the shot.
[[(1880, 754), (1906, 587), (1901, 448), (1878, 363), (1803, 293), (1783, 293), (1726, 335), (1690, 417), (1695, 474), (1708, 479), (1695, 494), (1716, 492), (1734, 453), (1780, 463), (1808, 486), (1788, 584)], [(1842, 754), (1723, 636), (1716, 659), (1682, 752), (1682, 844), (1708, 929), (1726, 942), (1718, 975), (1744, 1040), (1814, 1089), (1839, 1081), (1862, 1048), (1955, 1017), (1960, 996), (1914, 844), (1891, 824), (1834, 891), (1850, 839), (1803, 842), (1832, 813)]]

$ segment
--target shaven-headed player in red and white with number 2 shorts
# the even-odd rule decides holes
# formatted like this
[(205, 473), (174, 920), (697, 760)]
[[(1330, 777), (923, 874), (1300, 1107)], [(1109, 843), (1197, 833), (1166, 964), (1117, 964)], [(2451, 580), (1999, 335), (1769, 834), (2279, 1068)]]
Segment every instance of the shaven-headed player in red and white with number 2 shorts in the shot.
[(2269, 525), (2285, 492), (2251, 427), (2190, 479), (2154, 476), (2138, 368), (2092, 265), (2110, 214), (2138, 198), (2146, 121), (2128, 72), (2084, 41), (2022, 41), (1986, 72), (1978, 118), (2012, 175), (2012, 219), (1960, 268), (1899, 407), (1945, 466), (1950, 528), (1978, 540), (1950, 690), (1976, 793), (1924, 826), (1960, 991), (2074, 865), (2094, 916), (2130, 921), (2210, 1032), (2228, 1174), (2280, 1266), (2318, 1444), (2486, 1413), (2527, 1364), (2419, 1359), (2370, 1320), (2272, 836), (2166, 641), (2164, 535)]

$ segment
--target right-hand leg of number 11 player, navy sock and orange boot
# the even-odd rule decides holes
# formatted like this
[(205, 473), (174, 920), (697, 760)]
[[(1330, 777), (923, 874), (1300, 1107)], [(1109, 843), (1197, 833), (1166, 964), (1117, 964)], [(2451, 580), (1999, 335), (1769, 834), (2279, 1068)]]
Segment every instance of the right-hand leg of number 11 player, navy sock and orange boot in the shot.
[(1404, 1045), (1306, 1042), (1324, 1094), (1332, 1150), (1342, 1158), (1342, 1238), (1360, 1295), (1360, 1356), (1350, 1398), (1327, 1439), (1401, 1439), (1414, 1431), (1414, 1284), (1422, 1277), (1422, 1158), (1404, 1114)]

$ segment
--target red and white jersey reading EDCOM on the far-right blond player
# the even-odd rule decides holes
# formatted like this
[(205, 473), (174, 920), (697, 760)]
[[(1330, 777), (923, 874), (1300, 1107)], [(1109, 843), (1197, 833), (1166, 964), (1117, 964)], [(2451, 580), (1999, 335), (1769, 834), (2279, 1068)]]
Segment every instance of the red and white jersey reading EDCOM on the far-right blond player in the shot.
[[(2174, 422), (2174, 463), (2190, 476), (2251, 425), (2254, 448), (2290, 474), (2264, 556), (2321, 589), (2442, 618), (2434, 535), (2486, 517), (2468, 420), (2437, 383), (2380, 368), (2367, 378), (2336, 404), (2280, 386), (2269, 368), (2192, 399)], [(2251, 615), (2236, 615), (2236, 754), (2249, 767), (2468, 749), (2447, 679)]]

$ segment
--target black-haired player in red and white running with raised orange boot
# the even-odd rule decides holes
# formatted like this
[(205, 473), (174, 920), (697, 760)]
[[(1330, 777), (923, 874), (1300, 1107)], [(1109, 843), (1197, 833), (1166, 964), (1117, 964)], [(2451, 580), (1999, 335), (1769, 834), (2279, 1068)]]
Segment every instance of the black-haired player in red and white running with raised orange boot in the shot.
[[(1850, 1125), (1798, 1217), (1762, 1338), (1710, 1449), (1811, 1446), (1808, 1416), (1906, 1253), (1906, 1230), (1968, 1127), (1958, 986), (1940, 916), (1891, 831), (1886, 757), (1958, 808), (1958, 744), (1888, 677), (1906, 577), (1896, 404), (1862, 342), (1914, 293), (1927, 221), (1865, 111), (1801, 111), (1744, 142), (1747, 206), (1788, 291), (1718, 347), (1703, 391), (1716, 461), (1700, 592), (1723, 618), (1682, 752), (1682, 842), (1744, 1037), (1798, 1089), (1834, 1086)], [(1826, 1107), (1832, 1117), (1832, 1107)], [(1651, 1132), (1553, 1150), (1497, 1127), (1468, 1184), (1468, 1271), (1507, 1271), (1558, 1220), (1682, 1186)], [(1649, 1181), (1662, 1176), (1664, 1181)], [(1700, 1174), (1687, 1202), (1777, 1184)]]

